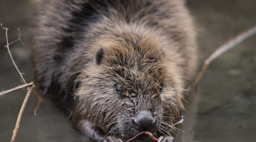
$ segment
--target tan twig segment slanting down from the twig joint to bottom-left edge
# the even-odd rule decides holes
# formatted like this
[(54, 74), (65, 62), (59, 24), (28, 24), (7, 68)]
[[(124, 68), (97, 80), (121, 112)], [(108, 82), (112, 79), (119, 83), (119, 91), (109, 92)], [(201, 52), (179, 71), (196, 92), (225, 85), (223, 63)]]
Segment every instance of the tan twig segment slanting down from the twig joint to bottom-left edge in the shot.
[(27, 102), (28, 102), (28, 98), (29, 98), (29, 96), (30, 96), (30, 94), (31, 94), (31, 92), (32, 92), (32, 90), (33, 90), (34, 87), (35, 87), (35, 86), (32, 85), (32, 86), (30, 86), (30, 87), (28, 88), (28, 92), (27, 92), (26, 97), (25, 97), (25, 99), (24, 99), (24, 101), (23, 101), (23, 103), (22, 103), (22, 106), (21, 106), (21, 108), (20, 108), (20, 112), (19, 112), (19, 115), (18, 115), (16, 124), (15, 124), (15, 128), (14, 128), (14, 130), (13, 130), (11, 142), (14, 142), (14, 141), (15, 141), (15, 138), (16, 138), (16, 136), (17, 136), (17, 132), (18, 132), (19, 127), (20, 127), (21, 116), (22, 116), (22, 114), (23, 114), (23, 111), (24, 111), (24, 109), (25, 109), (25, 106), (26, 106), (26, 104), (27, 104)]

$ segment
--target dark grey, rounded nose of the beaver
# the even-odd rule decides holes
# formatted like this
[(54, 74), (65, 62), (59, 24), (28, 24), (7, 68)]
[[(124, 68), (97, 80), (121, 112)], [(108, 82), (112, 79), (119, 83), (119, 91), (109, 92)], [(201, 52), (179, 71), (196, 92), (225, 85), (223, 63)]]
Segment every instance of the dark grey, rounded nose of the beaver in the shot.
[(133, 119), (132, 123), (136, 130), (149, 131), (155, 126), (156, 119), (153, 118), (150, 112), (142, 111)]

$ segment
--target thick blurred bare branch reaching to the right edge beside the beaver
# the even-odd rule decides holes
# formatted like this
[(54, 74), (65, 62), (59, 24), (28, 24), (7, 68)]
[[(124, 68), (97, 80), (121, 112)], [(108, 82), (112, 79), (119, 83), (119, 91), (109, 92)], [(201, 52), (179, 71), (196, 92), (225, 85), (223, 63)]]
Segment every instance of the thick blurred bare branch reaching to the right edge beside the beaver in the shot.
[(220, 56), (221, 54), (223, 54), (224, 52), (226, 52), (227, 50), (233, 48), (234, 46), (236, 46), (237, 44), (239, 44), (240, 42), (244, 41), (245, 39), (247, 39), (248, 37), (252, 36), (253, 34), (256, 33), (256, 26), (253, 26), (252, 28), (250, 28), (247, 31), (244, 31), (241, 34), (238, 34), (237, 36), (233, 37), (232, 39), (230, 39), (228, 42), (224, 43), (222, 46), (220, 46), (217, 50), (215, 50), (211, 56), (209, 56), (205, 61), (204, 61), (204, 65), (201, 69), (201, 71), (199, 72), (199, 74), (197, 75), (194, 83), (192, 84), (192, 87), (195, 87), (197, 85), (197, 83), (199, 82), (199, 80), (201, 79), (201, 77), (204, 74), (204, 71), (207, 69), (207, 67), (210, 65), (210, 63), (212, 62), (212, 60), (214, 60), (215, 58), (217, 58), (218, 56)]

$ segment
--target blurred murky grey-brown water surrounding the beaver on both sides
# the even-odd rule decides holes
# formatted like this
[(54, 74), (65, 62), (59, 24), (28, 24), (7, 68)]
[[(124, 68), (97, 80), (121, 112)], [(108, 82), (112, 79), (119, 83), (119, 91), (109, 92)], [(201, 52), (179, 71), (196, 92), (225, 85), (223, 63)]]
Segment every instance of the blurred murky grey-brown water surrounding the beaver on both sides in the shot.
[[(29, 25), (40, 0), (1, 0), (0, 23), (9, 28), (12, 56), (27, 82), (33, 81), (29, 47)], [(198, 31), (200, 67), (215, 49), (240, 32), (256, 25), (255, 0), (187, 0)], [(20, 83), (9, 57), (5, 30), (0, 29), (0, 90)], [(256, 35), (212, 62), (185, 102), (183, 132), (177, 142), (256, 141)], [(10, 141), (25, 90), (0, 98), (0, 141)], [(42, 98), (37, 116), (37, 97), (31, 94), (21, 119), (17, 142), (91, 141), (79, 136), (67, 116), (49, 99)]]

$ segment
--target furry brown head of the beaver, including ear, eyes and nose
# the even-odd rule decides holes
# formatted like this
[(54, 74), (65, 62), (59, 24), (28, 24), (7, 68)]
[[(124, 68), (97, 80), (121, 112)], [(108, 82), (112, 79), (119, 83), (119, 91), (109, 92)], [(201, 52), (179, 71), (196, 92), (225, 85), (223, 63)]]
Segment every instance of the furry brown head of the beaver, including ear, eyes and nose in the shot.
[(110, 41), (98, 44), (95, 60), (81, 73), (77, 113), (106, 134), (175, 132), (182, 107), (180, 67), (153, 38)]

